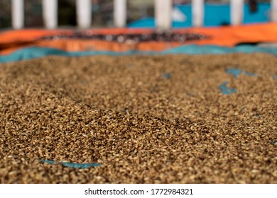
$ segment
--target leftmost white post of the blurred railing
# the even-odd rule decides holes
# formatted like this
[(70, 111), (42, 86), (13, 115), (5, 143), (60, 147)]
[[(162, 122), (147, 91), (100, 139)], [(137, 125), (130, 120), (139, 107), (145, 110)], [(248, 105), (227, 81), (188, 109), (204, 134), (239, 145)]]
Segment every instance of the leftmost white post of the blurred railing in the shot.
[(14, 29), (21, 29), (24, 26), (24, 0), (11, 1), (11, 18)]

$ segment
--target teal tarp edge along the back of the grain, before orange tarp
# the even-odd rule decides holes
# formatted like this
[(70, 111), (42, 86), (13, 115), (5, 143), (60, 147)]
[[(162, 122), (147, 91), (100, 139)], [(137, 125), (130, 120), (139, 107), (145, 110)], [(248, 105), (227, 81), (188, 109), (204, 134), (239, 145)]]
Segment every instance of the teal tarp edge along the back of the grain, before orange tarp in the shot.
[(112, 51), (86, 51), (86, 52), (65, 52), (55, 48), (27, 47), (17, 50), (9, 55), (0, 56), (0, 62), (16, 62), (26, 59), (36, 59), (50, 55), (66, 57), (82, 57), (94, 55), (126, 56), (132, 54), (158, 55), (158, 54), (229, 54), (229, 53), (268, 53), (277, 56), (277, 49), (272, 47), (256, 47), (253, 45), (239, 45), (237, 47), (220, 47), (217, 45), (182, 45), (161, 52), (136, 51), (112, 52)]

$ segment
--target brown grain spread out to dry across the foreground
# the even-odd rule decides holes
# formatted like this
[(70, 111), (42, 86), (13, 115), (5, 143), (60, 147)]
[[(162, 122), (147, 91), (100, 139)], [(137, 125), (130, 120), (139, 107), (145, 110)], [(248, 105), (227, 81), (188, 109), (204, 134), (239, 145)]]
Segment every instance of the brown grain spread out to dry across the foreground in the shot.
[(268, 54), (1, 64), (0, 182), (277, 183), (276, 66)]

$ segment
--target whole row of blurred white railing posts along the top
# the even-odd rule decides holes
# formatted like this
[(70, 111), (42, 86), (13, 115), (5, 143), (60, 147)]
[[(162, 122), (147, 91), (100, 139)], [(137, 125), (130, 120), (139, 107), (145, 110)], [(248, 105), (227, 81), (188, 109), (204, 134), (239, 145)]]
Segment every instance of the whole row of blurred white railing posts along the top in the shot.
[[(149, 0), (151, 1), (151, 0)], [(172, 0), (153, 0), (157, 28), (171, 28)], [(24, 0), (11, 0), (12, 28), (24, 28)], [(42, 0), (45, 28), (58, 27), (58, 0)], [(114, 26), (125, 27), (127, 0), (114, 0)], [(77, 24), (79, 28), (90, 28), (92, 24), (92, 1), (76, 0)], [(243, 20), (244, 0), (230, 0), (231, 24), (239, 25)], [(204, 21), (204, 0), (192, 0), (192, 25), (200, 27)], [(277, 0), (271, 0), (271, 21), (277, 22)]]

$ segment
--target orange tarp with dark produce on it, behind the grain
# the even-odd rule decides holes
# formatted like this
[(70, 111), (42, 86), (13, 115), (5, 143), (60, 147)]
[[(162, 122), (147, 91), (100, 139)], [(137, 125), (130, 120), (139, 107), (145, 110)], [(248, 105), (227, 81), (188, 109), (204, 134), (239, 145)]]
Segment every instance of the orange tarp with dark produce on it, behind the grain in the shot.
[[(68, 52), (107, 50), (124, 52), (128, 50), (161, 51), (180, 45), (219, 45), (234, 47), (239, 43), (277, 42), (277, 23), (253, 25), (222, 26), (216, 28), (183, 28), (173, 30), (175, 33), (201, 33), (209, 38), (188, 42), (139, 42), (119, 43), (105, 40), (80, 40), (60, 38), (57, 40), (39, 40), (47, 35), (72, 35), (75, 30), (11, 30), (0, 33), (0, 54), (9, 54), (21, 47), (52, 47)], [(134, 34), (153, 33), (153, 29), (106, 28), (85, 30), (86, 34)]]

